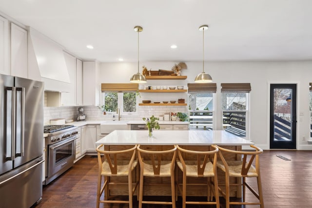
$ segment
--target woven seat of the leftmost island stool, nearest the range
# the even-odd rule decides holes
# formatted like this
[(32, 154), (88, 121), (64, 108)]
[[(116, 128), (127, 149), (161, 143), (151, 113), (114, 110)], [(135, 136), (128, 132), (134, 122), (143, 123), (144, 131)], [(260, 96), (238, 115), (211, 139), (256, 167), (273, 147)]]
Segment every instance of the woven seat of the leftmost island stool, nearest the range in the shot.
[[(134, 170), (137, 166), (137, 160), (133, 161), (131, 170)], [(102, 163), (102, 172), (101, 175), (105, 176), (128, 176), (129, 175), (129, 160), (118, 160), (117, 161), (117, 174), (112, 174), (111, 169), (109, 167), (109, 163), (107, 160), (105, 160)]]

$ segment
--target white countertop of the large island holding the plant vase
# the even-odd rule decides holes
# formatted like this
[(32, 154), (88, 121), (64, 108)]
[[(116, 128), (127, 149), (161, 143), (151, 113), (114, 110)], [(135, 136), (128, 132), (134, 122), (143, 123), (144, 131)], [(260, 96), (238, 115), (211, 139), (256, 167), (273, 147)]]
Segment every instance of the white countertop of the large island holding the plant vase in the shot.
[(251, 145), (253, 142), (225, 131), (148, 131), (115, 130), (96, 142), (96, 145)]

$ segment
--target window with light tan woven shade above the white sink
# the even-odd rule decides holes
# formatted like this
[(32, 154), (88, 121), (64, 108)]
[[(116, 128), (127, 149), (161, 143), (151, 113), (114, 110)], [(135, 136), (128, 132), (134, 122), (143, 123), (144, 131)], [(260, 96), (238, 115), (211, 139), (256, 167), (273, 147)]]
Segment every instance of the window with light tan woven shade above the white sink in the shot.
[(107, 112), (136, 113), (138, 107), (137, 99), (138, 84), (129, 83), (103, 83), (102, 105)]

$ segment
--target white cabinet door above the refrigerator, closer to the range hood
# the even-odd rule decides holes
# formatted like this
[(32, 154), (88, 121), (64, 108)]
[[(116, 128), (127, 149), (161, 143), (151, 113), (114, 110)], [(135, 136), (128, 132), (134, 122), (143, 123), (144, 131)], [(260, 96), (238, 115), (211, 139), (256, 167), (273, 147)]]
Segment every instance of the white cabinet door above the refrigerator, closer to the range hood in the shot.
[(28, 78), (27, 30), (11, 23), (11, 75)]

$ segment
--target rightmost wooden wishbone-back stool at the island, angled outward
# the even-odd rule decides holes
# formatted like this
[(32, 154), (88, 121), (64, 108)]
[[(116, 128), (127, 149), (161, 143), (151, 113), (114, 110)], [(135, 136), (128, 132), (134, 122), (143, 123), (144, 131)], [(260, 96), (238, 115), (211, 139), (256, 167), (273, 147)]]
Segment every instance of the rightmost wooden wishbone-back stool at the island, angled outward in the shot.
[[(219, 148), (219, 156), (221, 161), (217, 162), (217, 167), (225, 172), (225, 192), (219, 188), (220, 193), (223, 195), (226, 201), (226, 208), (230, 208), (230, 205), (260, 205), (260, 208), (264, 208), (263, 204), (263, 194), (262, 194), (262, 185), (260, 177), (260, 163), (259, 163), (259, 154), (263, 153), (263, 150), (251, 145), (250, 147), (254, 148), (254, 151), (234, 151), (228, 150), (221, 147)], [(231, 161), (226, 160), (223, 155), (223, 152), (234, 153), (239, 156), (243, 156), (242, 161)], [(249, 161), (248, 157), (249, 156)], [(255, 160), (255, 167), (252, 165)], [(236, 171), (234, 170), (234, 167)], [(240, 169), (237, 169), (240, 167)], [(240, 170), (240, 172), (239, 172)], [(230, 177), (240, 178), (241, 183), (230, 184)], [(246, 177), (256, 177), (258, 192), (256, 192), (247, 182)], [(219, 186), (222, 186), (219, 184)], [(242, 202), (233, 202), (230, 201), (230, 186), (242, 186), (243, 188), (243, 201)], [(254, 196), (259, 200), (258, 202), (246, 202), (246, 187), (254, 194)]]

